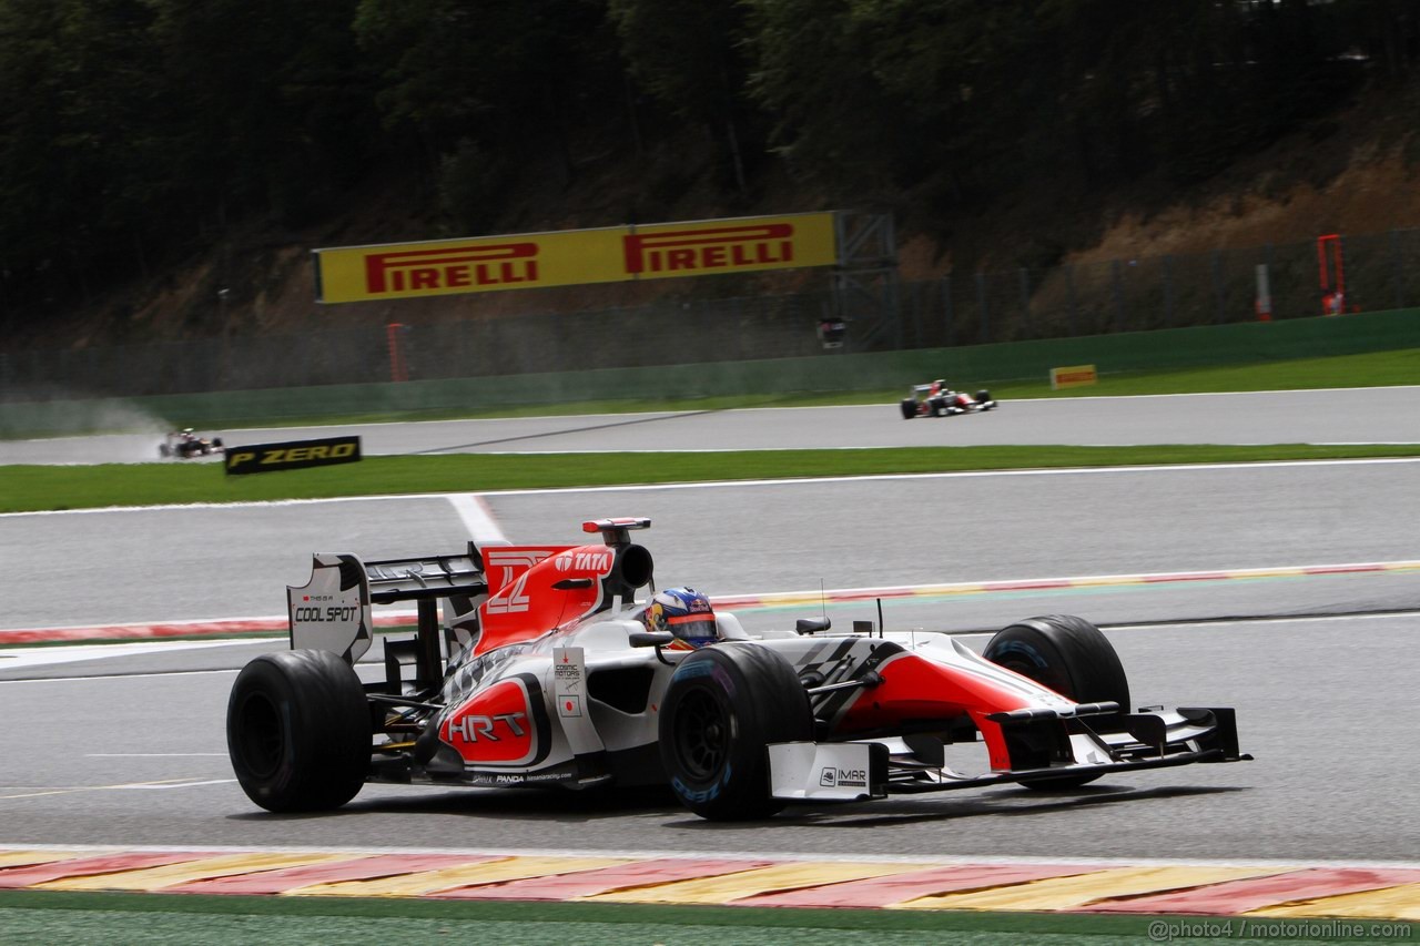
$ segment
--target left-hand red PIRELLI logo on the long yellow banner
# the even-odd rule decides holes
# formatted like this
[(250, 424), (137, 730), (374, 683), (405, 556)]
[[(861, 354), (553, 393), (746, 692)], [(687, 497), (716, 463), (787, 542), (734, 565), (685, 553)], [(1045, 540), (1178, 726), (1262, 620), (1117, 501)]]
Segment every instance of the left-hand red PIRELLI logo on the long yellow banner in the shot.
[(471, 243), (365, 257), (365, 291), (413, 293), (537, 283), (537, 243)]

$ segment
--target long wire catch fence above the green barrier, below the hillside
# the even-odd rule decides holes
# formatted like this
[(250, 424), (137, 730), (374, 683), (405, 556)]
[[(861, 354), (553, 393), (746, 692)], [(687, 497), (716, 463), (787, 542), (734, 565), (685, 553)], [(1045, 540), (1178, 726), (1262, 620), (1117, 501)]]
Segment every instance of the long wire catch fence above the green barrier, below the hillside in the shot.
[[(1356, 311), (1420, 307), (1420, 230), (1345, 236), (1345, 297)], [(531, 312), (402, 327), (0, 352), (0, 399), (251, 391), (381, 381), (483, 378), (586, 368), (666, 366), (957, 348), (1254, 321), (1258, 267), (1271, 320), (1322, 315), (1315, 241), (1203, 254), (954, 273), (882, 291), (659, 298), (635, 307)], [(1335, 281), (1335, 274), (1329, 274)], [(821, 325), (842, 321), (828, 347)]]

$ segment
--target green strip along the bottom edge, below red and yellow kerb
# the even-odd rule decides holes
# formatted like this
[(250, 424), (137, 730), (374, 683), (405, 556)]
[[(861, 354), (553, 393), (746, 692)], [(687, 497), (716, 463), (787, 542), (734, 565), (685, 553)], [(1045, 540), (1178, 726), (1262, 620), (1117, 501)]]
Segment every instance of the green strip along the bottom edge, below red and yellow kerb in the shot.
[[(1413, 923), (1326, 919), (819, 910), (611, 903), (0, 892), (13, 942), (192, 943), (802, 943), (1414, 942)], [(569, 932), (575, 930), (569, 936)]]

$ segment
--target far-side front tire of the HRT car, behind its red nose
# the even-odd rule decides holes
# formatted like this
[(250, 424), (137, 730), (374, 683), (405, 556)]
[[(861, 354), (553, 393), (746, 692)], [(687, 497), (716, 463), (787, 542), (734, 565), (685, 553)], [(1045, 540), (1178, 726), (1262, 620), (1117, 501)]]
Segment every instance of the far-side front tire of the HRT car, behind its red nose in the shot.
[[(1008, 670), (1051, 687), (1076, 703), (1116, 702), (1129, 712), (1129, 679), (1115, 646), (1099, 628), (1083, 618), (1048, 615), (1028, 618), (998, 631), (983, 656)], [(1110, 727), (1108, 716), (1092, 716), (1093, 726)], [(1078, 788), (1099, 778), (1095, 776), (1055, 776), (1030, 778), (1027, 788)]]

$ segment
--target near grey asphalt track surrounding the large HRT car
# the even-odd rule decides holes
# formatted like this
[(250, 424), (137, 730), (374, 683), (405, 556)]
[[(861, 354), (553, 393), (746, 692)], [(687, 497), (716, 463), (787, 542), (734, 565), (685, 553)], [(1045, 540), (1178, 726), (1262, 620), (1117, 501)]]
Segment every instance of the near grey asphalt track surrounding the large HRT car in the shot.
[[(1416, 437), (1397, 425), (1373, 439)], [(582, 518), (650, 516), (657, 584), (713, 595), (1279, 570), (1420, 558), (1417, 473), (1400, 460), (501, 493), (483, 499), (481, 527), (579, 541)], [(310, 551), (454, 551), (477, 524), (467, 510), (420, 497), (9, 516), (0, 626), (280, 614)], [(1257, 761), (1058, 795), (801, 808), (760, 825), (710, 825), (646, 793), (376, 785), (335, 814), (273, 817), (230, 781), (223, 714), (236, 668), (280, 642), (9, 651), (0, 712), (16, 741), (0, 764), (0, 842), (1409, 861), (1417, 592), (1417, 571), (1367, 571), (888, 601), (893, 628), (971, 631), (1052, 611), (1109, 625), (1136, 702), (1237, 706)], [(839, 626), (873, 616), (869, 604), (828, 609)]]

